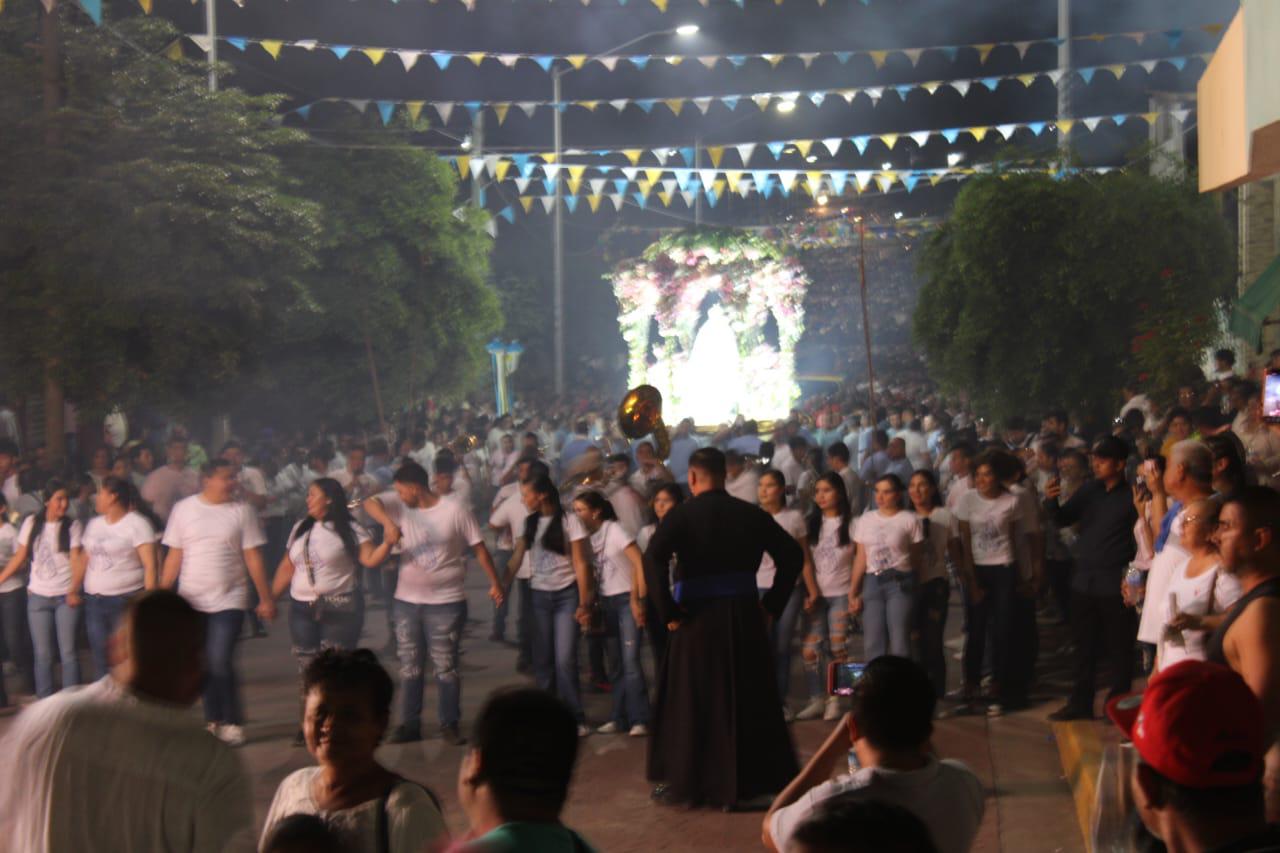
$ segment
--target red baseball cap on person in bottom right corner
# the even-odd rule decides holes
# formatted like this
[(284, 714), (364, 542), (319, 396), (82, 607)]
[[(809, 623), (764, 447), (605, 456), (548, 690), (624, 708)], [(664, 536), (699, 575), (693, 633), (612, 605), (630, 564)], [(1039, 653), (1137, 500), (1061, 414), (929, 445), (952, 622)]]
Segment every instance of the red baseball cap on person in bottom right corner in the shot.
[(1107, 702), (1107, 716), (1146, 763), (1179, 785), (1230, 788), (1262, 777), (1262, 704), (1225, 666), (1175, 663), (1144, 692)]

